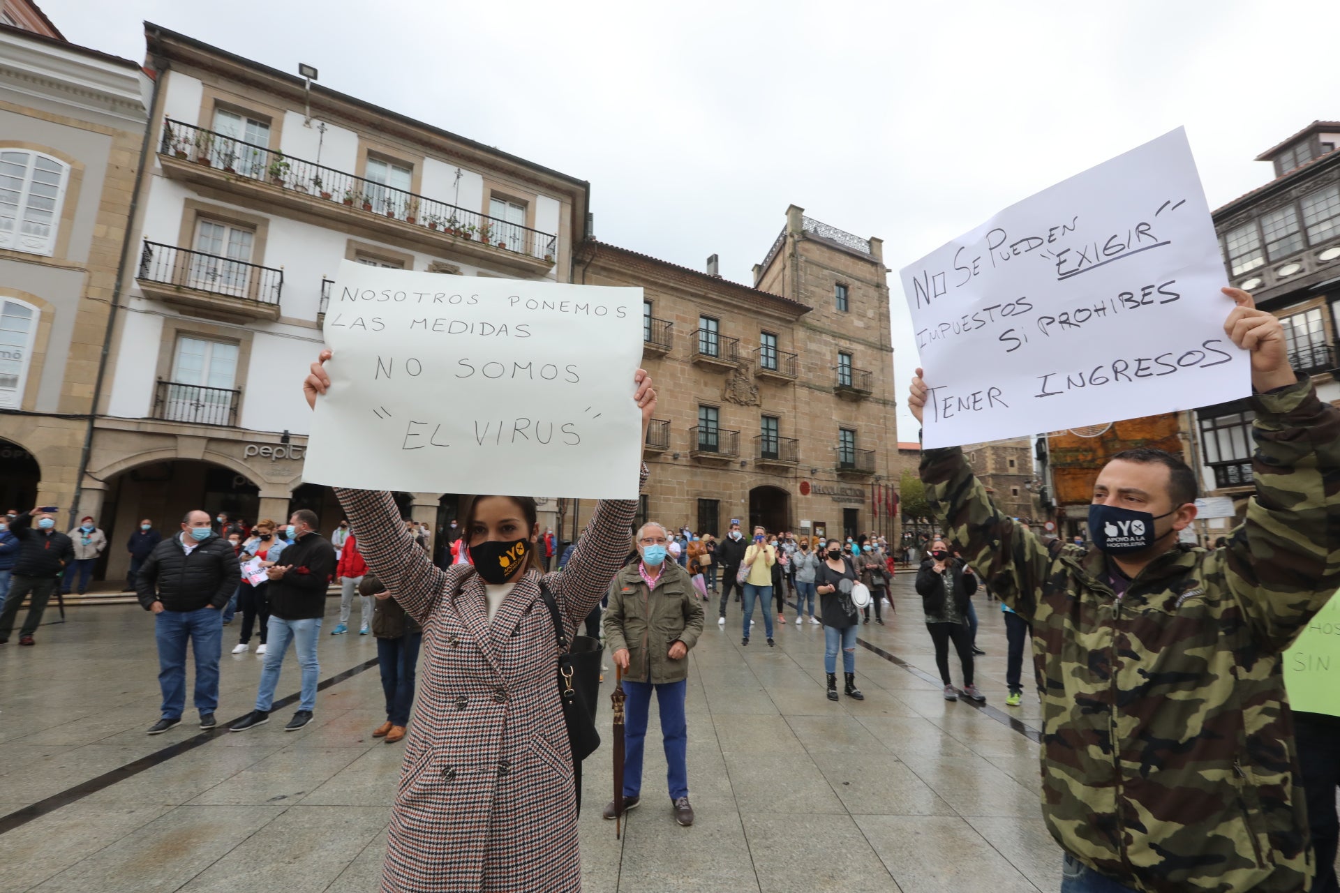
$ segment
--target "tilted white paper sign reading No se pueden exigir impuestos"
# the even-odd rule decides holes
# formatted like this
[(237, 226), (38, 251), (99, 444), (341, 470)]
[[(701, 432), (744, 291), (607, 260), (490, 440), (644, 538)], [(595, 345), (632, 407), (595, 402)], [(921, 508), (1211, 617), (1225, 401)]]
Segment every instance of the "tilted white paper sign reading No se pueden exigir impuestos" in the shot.
[(943, 447), (1250, 394), (1210, 210), (1178, 129), (902, 270)]

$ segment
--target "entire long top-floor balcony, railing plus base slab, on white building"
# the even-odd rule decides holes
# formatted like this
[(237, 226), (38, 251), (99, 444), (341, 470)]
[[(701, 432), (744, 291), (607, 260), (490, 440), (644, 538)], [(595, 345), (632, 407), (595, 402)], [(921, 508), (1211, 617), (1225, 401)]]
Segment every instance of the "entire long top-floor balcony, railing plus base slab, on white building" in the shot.
[(551, 233), (178, 120), (163, 122), (158, 162), (173, 179), (314, 214), (395, 244), (449, 249), (472, 262), (545, 273), (557, 260)]

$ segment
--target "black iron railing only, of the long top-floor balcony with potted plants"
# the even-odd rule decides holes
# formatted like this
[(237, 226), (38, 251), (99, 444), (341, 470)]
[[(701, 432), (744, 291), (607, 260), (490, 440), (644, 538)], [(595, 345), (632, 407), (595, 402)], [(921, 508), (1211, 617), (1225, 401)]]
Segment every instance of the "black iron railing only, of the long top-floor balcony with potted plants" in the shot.
[(366, 177), (355, 177), (343, 170), (293, 158), (265, 146), (256, 146), (180, 120), (168, 119), (163, 123), (158, 151), (218, 167), (234, 177), (268, 182), (324, 201), (383, 214), (453, 238), (486, 242), (494, 248), (549, 262), (557, 257), (557, 237), (551, 233), (426, 198)]

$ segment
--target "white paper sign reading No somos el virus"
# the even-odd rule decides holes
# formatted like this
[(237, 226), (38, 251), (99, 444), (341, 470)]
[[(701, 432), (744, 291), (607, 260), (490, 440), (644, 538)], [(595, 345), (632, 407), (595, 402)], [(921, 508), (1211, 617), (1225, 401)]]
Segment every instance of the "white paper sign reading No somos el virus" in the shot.
[(303, 479), (635, 499), (642, 289), (340, 265)]

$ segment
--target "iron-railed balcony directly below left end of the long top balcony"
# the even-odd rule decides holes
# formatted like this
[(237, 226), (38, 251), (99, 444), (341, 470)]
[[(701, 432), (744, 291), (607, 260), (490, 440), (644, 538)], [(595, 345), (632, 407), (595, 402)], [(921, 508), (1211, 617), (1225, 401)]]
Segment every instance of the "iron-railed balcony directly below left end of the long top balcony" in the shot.
[(279, 319), (284, 270), (145, 240), (135, 281), (145, 297), (244, 319)]

